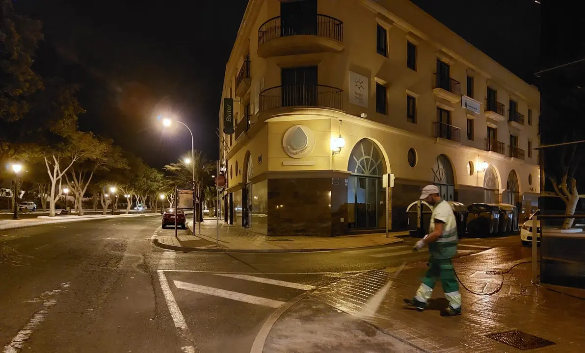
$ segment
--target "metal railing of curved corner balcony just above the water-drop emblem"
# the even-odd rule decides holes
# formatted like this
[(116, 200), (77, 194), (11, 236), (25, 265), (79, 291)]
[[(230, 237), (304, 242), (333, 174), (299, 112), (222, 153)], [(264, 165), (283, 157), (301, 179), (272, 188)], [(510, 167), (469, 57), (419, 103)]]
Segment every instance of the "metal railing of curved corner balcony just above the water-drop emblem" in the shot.
[(343, 90), (325, 85), (285, 85), (264, 89), (259, 96), (259, 111), (283, 106), (314, 106), (342, 109)]

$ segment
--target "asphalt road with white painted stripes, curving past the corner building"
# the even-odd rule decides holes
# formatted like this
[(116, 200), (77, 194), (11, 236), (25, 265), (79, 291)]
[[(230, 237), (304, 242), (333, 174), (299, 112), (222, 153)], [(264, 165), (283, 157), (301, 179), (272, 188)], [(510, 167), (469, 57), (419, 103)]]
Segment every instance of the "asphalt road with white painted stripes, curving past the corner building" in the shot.
[[(159, 226), (160, 216), (151, 216), (0, 231), (2, 353), (247, 353), (275, 310), (308, 290), (428, 256), (412, 253), (414, 238), (386, 247), (312, 253), (163, 251), (150, 242)], [(502, 245), (519, 247), (518, 237), (465, 239), (459, 248), (469, 255)], [(301, 309), (290, 310), (285, 322), (304, 317), (322, 326)], [(374, 342), (378, 336), (371, 328), (346, 321), (339, 330), (363, 331), (364, 349), (378, 352), (380, 342), (390, 340)], [(294, 332), (283, 325), (275, 331)], [(276, 348), (264, 352), (282, 351), (273, 338), (267, 342), (266, 347)], [(380, 352), (405, 350), (394, 343), (395, 348)]]

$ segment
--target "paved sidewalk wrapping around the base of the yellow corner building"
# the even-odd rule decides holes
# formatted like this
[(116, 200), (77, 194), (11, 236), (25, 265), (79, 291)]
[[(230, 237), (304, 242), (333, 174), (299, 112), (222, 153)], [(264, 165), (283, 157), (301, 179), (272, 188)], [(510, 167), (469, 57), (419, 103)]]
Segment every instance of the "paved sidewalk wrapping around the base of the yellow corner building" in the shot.
[[(192, 231), (192, 222), (188, 222), (187, 226)], [(178, 237), (174, 237), (173, 233), (160, 232), (153, 241), (162, 248), (176, 251), (301, 252), (404, 243), (404, 240), (396, 236), (404, 236), (406, 233), (392, 233), (388, 238), (381, 233), (340, 237), (267, 237), (219, 221), (219, 244), (215, 245), (216, 220), (205, 219), (201, 223), (201, 234), (199, 225), (196, 224), (194, 235), (180, 231)]]

